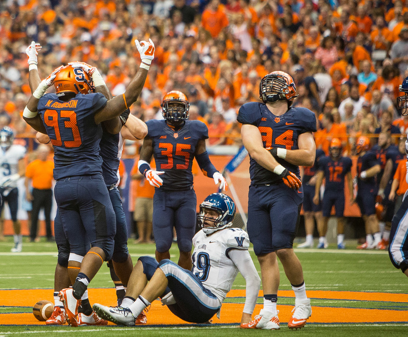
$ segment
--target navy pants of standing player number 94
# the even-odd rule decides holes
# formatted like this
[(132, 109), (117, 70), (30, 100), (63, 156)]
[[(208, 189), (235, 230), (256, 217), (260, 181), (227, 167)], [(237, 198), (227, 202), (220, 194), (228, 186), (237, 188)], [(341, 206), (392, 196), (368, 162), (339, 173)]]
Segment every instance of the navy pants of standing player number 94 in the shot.
[(302, 199), (302, 189), (283, 182), (249, 186), (247, 230), (256, 255), (293, 247)]

